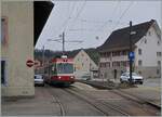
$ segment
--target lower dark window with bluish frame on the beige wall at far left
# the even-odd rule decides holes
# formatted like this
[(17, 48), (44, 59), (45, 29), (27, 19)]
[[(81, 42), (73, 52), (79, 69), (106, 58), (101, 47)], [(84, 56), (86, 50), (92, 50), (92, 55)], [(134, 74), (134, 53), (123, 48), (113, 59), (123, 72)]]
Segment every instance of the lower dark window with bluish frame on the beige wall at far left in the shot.
[(1, 84), (5, 84), (6, 81), (6, 62), (1, 61)]

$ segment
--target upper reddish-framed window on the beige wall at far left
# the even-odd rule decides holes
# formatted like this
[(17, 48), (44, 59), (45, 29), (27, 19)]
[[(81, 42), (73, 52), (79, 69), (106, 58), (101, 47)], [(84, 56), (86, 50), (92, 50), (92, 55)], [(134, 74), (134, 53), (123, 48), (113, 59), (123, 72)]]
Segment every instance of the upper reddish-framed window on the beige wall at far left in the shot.
[(6, 44), (8, 42), (8, 18), (1, 17), (1, 43)]

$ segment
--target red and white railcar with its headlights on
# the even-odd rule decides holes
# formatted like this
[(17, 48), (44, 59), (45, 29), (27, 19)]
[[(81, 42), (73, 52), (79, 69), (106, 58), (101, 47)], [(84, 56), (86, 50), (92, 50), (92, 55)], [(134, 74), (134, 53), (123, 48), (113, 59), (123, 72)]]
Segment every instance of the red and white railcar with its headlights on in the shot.
[(44, 68), (44, 80), (51, 84), (69, 86), (75, 82), (73, 60), (67, 57), (52, 58)]

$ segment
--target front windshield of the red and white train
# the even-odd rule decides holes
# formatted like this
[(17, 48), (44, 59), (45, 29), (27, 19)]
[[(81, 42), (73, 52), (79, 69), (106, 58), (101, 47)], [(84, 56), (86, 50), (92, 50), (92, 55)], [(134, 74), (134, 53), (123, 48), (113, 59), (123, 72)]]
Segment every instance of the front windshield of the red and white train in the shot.
[(57, 74), (73, 74), (73, 64), (70, 63), (57, 64)]

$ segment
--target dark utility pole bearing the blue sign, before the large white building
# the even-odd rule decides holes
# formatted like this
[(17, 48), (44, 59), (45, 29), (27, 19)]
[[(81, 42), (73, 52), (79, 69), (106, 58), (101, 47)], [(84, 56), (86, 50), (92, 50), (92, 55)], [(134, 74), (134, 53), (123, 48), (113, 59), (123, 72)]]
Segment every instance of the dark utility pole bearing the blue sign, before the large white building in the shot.
[[(130, 53), (132, 52), (132, 21), (130, 22)], [(130, 58), (130, 83), (132, 83), (132, 62), (133, 58)]]

